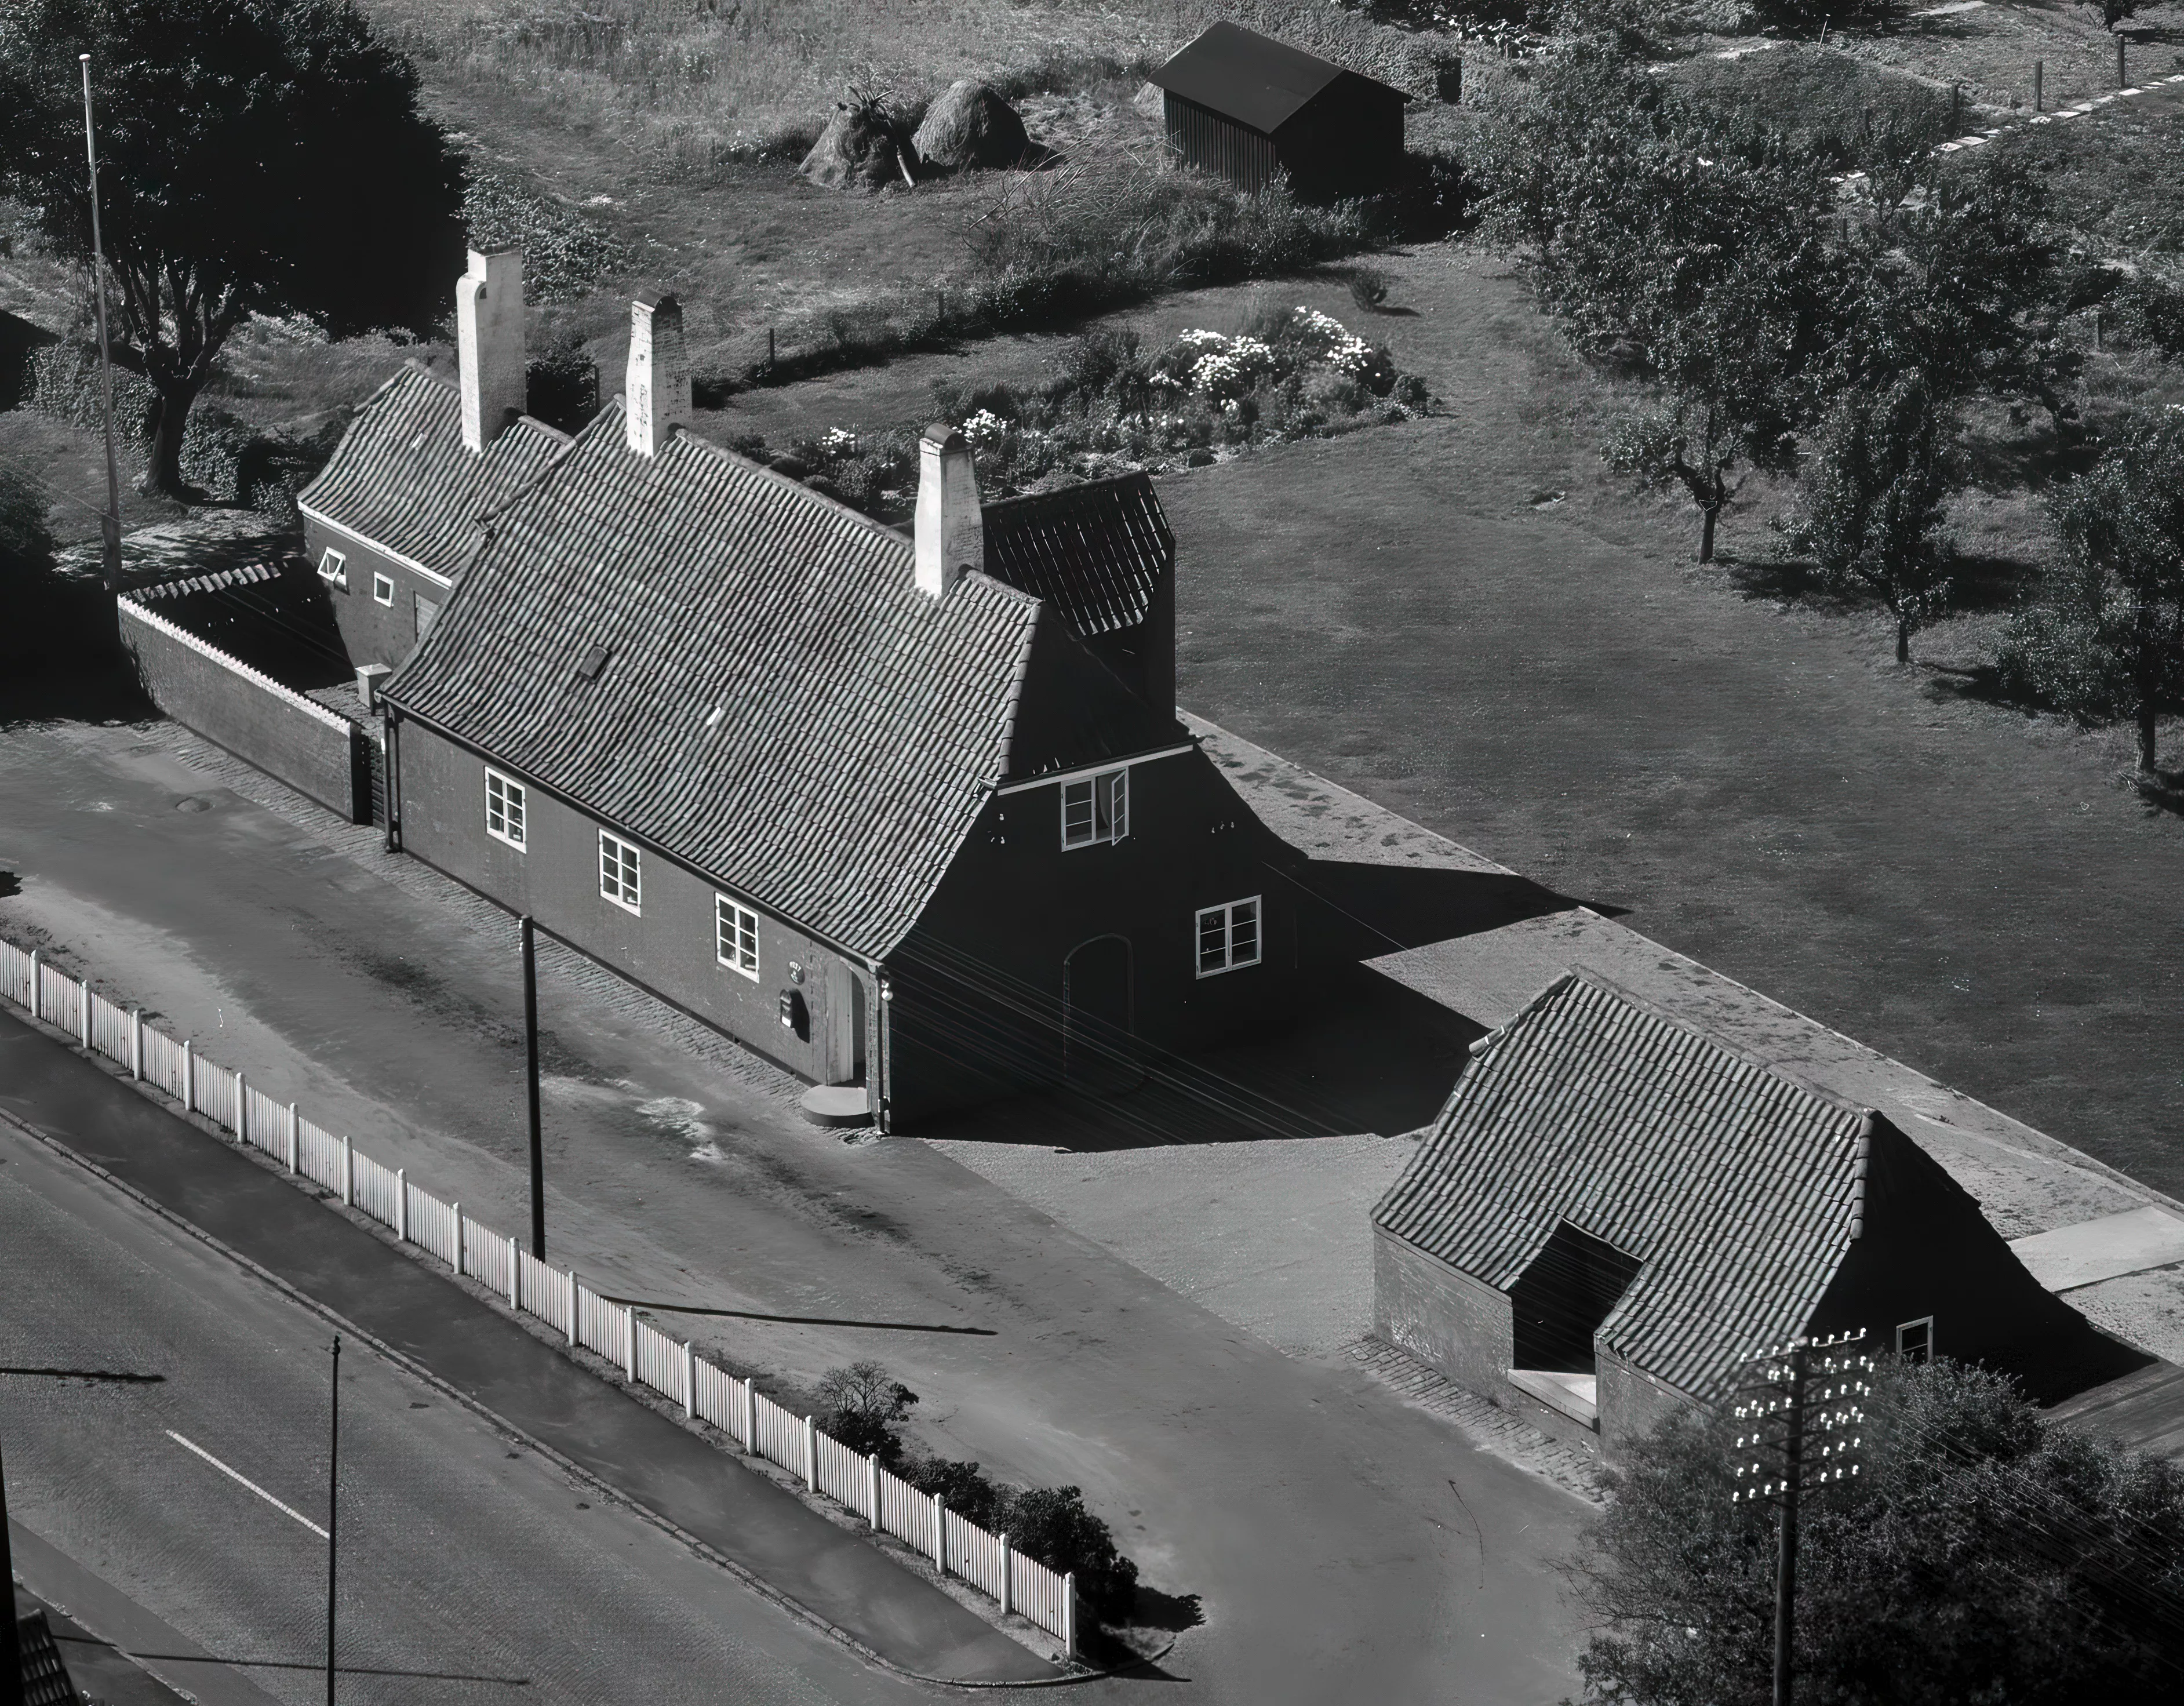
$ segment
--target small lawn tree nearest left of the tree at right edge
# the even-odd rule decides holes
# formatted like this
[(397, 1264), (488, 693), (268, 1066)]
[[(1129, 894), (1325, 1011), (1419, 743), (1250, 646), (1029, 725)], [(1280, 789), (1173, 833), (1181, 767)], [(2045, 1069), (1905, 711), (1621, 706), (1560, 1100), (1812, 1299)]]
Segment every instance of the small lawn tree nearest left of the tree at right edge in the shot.
[(1911, 633), (1948, 603), (1942, 511), (1959, 483), (1950, 428), (1918, 369), (1887, 391), (1839, 398), (1789, 526), (1830, 590), (1880, 599), (1896, 618), (1898, 664), (1911, 662)]

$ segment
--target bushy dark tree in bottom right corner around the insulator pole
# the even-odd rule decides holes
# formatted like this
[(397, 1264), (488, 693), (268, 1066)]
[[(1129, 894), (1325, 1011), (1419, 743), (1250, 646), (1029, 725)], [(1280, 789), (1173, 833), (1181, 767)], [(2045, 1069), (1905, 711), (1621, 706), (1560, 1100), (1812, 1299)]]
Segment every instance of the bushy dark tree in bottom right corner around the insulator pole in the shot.
[[(1806, 1505), (1797, 1697), (2153, 1706), (2184, 1662), (2184, 1472), (2040, 1420), (1996, 1374), (1883, 1363), (1856, 1481)], [(1756, 1706), (1773, 1512), (1730, 1503), (1736, 1422), (1671, 1422), (1614, 1472), (1572, 1564), (1616, 1706)]]

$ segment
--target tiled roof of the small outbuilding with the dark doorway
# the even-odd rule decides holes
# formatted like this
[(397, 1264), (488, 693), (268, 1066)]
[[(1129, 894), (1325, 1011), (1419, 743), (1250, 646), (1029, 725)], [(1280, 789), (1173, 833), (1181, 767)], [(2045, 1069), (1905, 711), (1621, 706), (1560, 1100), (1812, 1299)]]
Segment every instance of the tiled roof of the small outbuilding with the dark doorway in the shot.
[(1476, 1044), (1374, 1223), (1507, 1289), (1559, 1221), (1640, 1258), (1599, 1341), (1699, 1398), (1804, 1332), (1867, 1114), (1577, 972)]

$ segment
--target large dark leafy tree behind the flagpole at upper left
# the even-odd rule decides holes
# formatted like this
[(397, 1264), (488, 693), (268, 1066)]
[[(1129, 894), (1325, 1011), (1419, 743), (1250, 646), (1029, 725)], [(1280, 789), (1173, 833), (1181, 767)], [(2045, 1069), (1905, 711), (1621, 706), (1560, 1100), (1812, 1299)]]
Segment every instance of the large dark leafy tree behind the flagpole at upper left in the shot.
[(151, 380), (146, 483), (227, 336), (430, 332), (461, 258), (461, 168), (417, 72), (347, 0), (0, 0), (0, 192), (90, 260), (76, 55), (92, 55), (116, 360)]

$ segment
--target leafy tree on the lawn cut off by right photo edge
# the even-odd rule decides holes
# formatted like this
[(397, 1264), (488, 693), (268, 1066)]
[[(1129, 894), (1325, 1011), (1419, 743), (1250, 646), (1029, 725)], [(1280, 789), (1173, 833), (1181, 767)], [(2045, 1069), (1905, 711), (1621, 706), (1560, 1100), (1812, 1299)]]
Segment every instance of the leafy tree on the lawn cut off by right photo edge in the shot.
[(2184, 408), (2127, 428), (2049, 498), (2062, 561), (2003, 638), (2005, 686), (2075, 716), (2138, 725), (2184, 692)]

